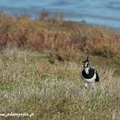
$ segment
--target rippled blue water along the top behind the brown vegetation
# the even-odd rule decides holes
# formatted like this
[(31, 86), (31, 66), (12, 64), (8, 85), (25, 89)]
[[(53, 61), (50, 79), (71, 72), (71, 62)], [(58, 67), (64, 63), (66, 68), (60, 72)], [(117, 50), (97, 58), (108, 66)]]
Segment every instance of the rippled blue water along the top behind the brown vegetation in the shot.
[(36, 13), (47, 10), (52, 15), (64, 12), (64, 20), (85, 21), (120, 30), (120, 0), (1, 0), (0, 11), (9, 15)]

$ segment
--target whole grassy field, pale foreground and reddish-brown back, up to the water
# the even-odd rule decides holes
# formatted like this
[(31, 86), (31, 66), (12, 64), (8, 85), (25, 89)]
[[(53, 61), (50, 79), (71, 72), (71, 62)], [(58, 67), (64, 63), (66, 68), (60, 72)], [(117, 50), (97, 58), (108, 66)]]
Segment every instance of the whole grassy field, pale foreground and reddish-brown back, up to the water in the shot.
[[(119, 34), (43, 13), (0, 14), (0, 119), (119, 120)], [(82, 88), (86, 51), (100, 76), (95, 88)]]

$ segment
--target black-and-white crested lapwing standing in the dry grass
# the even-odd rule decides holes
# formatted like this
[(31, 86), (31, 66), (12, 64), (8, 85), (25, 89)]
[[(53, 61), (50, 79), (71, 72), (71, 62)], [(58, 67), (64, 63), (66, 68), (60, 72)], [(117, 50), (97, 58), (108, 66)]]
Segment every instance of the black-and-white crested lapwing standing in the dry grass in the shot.
[(84, 81), (85, 88), (88, 87), (88, 85), (91, 85), (92, 87), (95, 86), (95, 82), (99, 82), (99, 75), (97, 70), (90, 67), (90, 61), (88, 60), (89, 56), (87, 56), (87, 59), (83, 61), (83, 70), (81, 78)]

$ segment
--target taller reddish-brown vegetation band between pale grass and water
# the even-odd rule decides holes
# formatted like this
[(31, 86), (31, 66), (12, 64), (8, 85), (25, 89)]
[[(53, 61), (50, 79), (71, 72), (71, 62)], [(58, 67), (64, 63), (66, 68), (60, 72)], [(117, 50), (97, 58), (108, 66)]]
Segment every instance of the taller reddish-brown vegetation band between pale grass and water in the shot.
[(39, 18), (9, 17), (0, 13), (0, 50), (16, 46), (44, 52), (53, 61), (78, 62), (80, 51), (120, 62), (120, 34), (101, 26), (53, 19), (43, 11)]

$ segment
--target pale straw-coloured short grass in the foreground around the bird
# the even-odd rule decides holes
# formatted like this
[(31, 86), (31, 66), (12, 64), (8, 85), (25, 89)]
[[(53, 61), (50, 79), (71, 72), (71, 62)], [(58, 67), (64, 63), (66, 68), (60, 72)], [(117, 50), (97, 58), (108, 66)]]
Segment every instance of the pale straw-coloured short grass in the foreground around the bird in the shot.
[(51, 64), (42, 53), (18, 48), (2, 50), (0, 113), (34, 116), (1, 119), (119, 120), (120, 77), (113, 77), (112, 68), (99, 66), (100, 82), (94, 89), (83, 89), (81, 70), (81, 63)]

